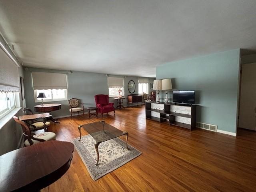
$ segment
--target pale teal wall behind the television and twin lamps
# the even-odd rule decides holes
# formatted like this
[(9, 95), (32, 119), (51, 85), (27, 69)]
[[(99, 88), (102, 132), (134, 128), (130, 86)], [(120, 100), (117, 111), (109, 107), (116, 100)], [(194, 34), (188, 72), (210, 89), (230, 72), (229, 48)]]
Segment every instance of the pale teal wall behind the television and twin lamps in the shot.
[(239, 69), (236, 49), (163, 64), (156, 68), (156, 79), (171, 78), (174, 90), (196, 91), (197, 122), (236, 133)]

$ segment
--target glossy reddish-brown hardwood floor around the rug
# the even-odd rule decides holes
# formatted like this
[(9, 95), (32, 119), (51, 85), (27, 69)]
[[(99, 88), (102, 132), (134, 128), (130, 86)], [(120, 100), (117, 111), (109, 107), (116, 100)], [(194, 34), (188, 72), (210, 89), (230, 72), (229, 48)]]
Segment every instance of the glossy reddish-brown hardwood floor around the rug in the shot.
[[(144, 106), (116, 110), (116, 116), (110, 113), (103, 119), (127, 131), (128, 143), (142, 155), (93, 181), (75, 150), (68, 172), (42, 192), (256, 191), (256, 132), (239, 130), (237, 137), (190, 132), (146, 120)], [(71, 141), (79, 136), (79, 124), (100, 120), (88, 120), (87, 115), (62, 118), (49, 130), (56, 132), (56, 140)]]

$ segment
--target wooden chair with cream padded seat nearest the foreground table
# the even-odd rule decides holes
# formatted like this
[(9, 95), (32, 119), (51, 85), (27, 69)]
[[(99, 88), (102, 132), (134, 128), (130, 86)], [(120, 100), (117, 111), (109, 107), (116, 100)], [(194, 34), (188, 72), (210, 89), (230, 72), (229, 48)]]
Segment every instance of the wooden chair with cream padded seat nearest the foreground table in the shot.
[(30, 146), (34, 143), (55, 140), (56, 138), (56, 134), (53, 132), (44, 132), (44, 133), (32, 135), (28, 125), (22, 120), (20, 120), (22, 118), (19, 119), (18, 117), (13, 116), (13, 119), (22, 127), (25, 146)]

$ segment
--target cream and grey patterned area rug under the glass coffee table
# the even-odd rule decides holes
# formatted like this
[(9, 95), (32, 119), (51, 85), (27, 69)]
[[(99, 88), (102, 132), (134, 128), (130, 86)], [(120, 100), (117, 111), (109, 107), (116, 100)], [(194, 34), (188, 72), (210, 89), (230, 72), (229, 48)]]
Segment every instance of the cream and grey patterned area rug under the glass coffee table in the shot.
[[(103, 132), (102, 137), (104, 137)], [(129, 144), (128, 148), (130, 150), (127, 150), (123, 140), (114, 138), (99, 144), (100, 160), (98, 166), (96, 166), (95, 141), (90, 135), (82, 136), (81, 141), (79, 141), (79, 138), (73, 139), (76, 150), (94, 181), (142, 154)]]

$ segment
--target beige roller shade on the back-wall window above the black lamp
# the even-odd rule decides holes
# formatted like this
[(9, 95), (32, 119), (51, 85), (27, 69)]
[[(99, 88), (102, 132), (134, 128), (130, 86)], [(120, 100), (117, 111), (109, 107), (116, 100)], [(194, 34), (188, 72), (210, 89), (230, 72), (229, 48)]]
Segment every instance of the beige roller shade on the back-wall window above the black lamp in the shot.
[(67, 89), (67, 74), (32, 72), (34, 90)]

